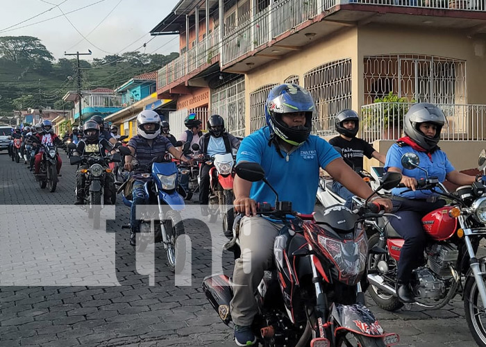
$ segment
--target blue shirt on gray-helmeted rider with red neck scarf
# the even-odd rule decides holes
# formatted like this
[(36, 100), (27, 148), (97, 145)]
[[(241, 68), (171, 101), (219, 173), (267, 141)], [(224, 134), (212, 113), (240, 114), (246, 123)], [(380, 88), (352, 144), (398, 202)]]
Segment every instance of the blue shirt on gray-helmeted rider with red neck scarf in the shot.
[[(437, 177), (440, 183), (443, 183), (444, 180), (446, 180), (446, 175), (449, 174), (449, 172), (455, 170), (451, 162), (449, 162), (446, 153), (441, 150), (432, 153), (432, 160), (430, 160), (425, 152), (416, 151), (410, 146), (401, 147), (398, 144), (392, 144), (387, 152), (385, 171), (387, 171), (389, 167), (398, 167), (405, 176), (413, 177), (416, 180), (425, 180), (426, 174), (421, 169), (409, 170), (402, 166), (401, 157), (405, 153), (417, 154), (420, 160), (419, 167), (425, 169), (428, 172), (429, 177)], [(408, 188), (394, 188), (392, 189), (392, 194), (402, 196), (403, 198), (428, 198), (428, 196), (436, 195), (433, 192), (430, 192), (430, 190), (403, 192), (407, 189)], [(439, 188), (437, 187), (436, 190), (439, 190)]]

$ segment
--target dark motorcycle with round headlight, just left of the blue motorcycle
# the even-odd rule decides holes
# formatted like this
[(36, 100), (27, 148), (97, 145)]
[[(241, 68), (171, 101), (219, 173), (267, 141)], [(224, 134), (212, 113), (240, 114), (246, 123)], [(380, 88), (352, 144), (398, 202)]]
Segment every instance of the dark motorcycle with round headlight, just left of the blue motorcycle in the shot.
[[(76, 144), (69, 144), (69, 149), (76, 149)], [(81, 174), (85, 175), (85, 209), (87, 210), (87, 217), (93, 219), (93, 228), (99, 229), (101, 209), (104, 206), (104, 191), (106, 176), (112, 174), (112, 170), (108, 167), (110, 162), (120, 162), (119, 153), (115, 153), (110, 157), (92, 156), (92, 155), (72, 155), (70, 164), (72, 165), (86, 165), (87, 169), (81, 169)], [(77, 189), (77, 188), (76, 188)], [(112, 187), (112, 201), (116, 199), (113, 197), (115, 188)]]

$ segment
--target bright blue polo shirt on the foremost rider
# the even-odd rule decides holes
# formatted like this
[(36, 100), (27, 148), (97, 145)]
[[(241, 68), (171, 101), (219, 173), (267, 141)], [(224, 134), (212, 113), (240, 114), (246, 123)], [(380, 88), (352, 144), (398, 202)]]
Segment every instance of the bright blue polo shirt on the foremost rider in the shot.
[[(333, 146), (321, 137), (310, 135), (307, 141), (288, 155), (282, 150), (284, 158), (277, 153), (275, 146), (268, 145), (270, 130), (268, 126), (245, 137), (238, 149), (236, 162), (258, 162), (265, 170), (265, 176), (278, 192), (280, 201), (292, 201), (292, 209), (309, 214), (314, 211), (319, 167), (326, 166), (341, 158)], [(275, 194), (263, 182), (251, 185), (250, 197), (258, 203), (275, 205)]]

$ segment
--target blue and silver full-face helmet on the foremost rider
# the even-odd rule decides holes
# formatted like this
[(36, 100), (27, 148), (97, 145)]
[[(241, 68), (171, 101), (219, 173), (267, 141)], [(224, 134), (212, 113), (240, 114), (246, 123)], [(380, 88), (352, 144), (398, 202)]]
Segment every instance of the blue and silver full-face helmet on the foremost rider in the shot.
[[(310, 135), (315, 111), (312, 95), (300, 85), (287, 83), (270, 90), (265, 103), (265, 120), (271, 133), (293, 146), (300, 146)], [(283, 114), (294, 112), (305, 112), (305, 126), (289, 127), (282, 121)]]

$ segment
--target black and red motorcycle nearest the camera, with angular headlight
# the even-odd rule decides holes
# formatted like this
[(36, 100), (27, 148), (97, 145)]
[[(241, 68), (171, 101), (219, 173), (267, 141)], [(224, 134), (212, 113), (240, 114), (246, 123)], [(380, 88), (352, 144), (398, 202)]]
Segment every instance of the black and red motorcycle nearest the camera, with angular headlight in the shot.
[[(263, 180), (269, 185), (259, 164), (241, 162), (235, 171), (244, 180)], [(400, 180), (401, 174), (390, 173), (383, 176), (379, 187), (394, 187)], [(383, 217), (383, 212), (378, 212), (374, 203), (367, 203), (359, 217), (339, 205), (302, 215), (292, 211), (290, 201), (279, 201), (278, 195), (275, 205), (271, 208), (263, 203), (258, 207), (260, 216), (287, 226), (274, 242), (274, 268), (265, 271), (255, 293), (259, 313), (252, 330), (262, 346), (398, 344), (399, 335), (385, 333), (365, 306), (361, 287), (368, 251), (362, 221)], [(237, 225), (226, 248), (231, 246), (229, 249), (239, 254)], [(208, 276), (202, 287), (221, 320), (232, 326), (231, 279), (224, 275)]]

